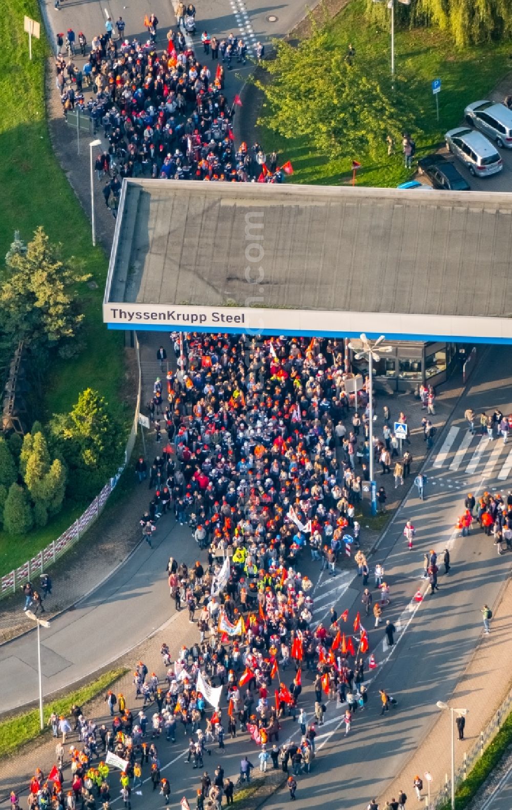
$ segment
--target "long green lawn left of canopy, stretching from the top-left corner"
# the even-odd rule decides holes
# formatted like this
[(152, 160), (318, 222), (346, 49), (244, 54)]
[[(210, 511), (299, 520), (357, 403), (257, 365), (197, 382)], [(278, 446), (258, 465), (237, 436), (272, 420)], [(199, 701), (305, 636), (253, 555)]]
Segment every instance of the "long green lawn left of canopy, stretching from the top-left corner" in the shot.
[(122, 334), (109, 332), (102, 322), (107, 259), (103, 249), (92, 248), (90, 224), (53, 155), (45, 121), (49, 45), (41, 23), (41, 40), (32, 39), (29, 61), (23, 15), (41, 19), (36, 0), (5, 0), (0, 18), (0, 261), (15, 228), (28, 241), (42, 225), (51, 241), (62, 242), (67, 257), (75, 256), (83, 271), (92, 274), (96, 289), (79, 285), (85, 350), (72, 360), (52, 363), (43, 384), (43, 416), (69, 410), (79, 391), (92, 384), (124, 421)]

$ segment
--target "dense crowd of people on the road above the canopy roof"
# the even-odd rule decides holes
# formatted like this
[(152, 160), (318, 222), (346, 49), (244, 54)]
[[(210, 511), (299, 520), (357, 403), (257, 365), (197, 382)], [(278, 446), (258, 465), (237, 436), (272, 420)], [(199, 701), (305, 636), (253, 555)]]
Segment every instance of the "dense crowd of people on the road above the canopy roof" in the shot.
[[(267, 157), (259, 143), (235, 145), (233, 117), (241, 99), (237, 94), (228, 99), (224, 80), (232, 62), (245, 64), (245, 41), (233, 33), (217, 40), (205, 31), (199, 58), (187, 29), (187, 20), (195, 25), (195, 8), (181, 6), (164, 49), (157, 45), (153, 14), (144, 19), (145, 41), (126, 38), (122, 17), (115, 24), (109, 18), (105, 32), (90, 45), (79, 32), (80, 51), (87, 57), (82, 67), (74, 55), (75, 32), (58, 34), (62, 110), (67, 117), (79, 108), (90, 117), (92, 132), (109, 142), (95, 166), (114, 215), (122, 177), (279, 183), (284, 173), (292, 173), (289, 161), (279, 166), (276, 153)], [(262, 53), (258, 43), (255, 58)]]

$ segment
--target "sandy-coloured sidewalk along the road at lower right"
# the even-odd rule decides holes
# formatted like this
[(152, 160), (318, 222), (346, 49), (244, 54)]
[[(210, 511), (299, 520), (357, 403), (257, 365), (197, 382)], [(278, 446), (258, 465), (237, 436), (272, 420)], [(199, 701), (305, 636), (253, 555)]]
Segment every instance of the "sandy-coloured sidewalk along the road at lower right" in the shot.
[[(455, 772), (463, 764), (464, 753), (470, 752), (480, 737), (480, 731), (483, 731), (488, 725), (493, 714), (510, 692), (511, 615), (512, 579), (509, 578), (504, 584), (501, 602), (497, 607), (494, 606), (490, 635), (484, 635), (482, 627), (480, 642), (475, 653), (450, 700), (447, 701), (449, 706), (468, 710), (464, 740), (458, 739), (458, 732), (455, 728)], [(437, 638), (437, 643), (442, 644), (442, 637)], [(450, 648), (447, 648), (446, 655), (450, 655)], [(439, 689), (440, 698), (442, 698), (442, 684), (439, 684)], [(397, 710), (400, 710), (399, 706)], [(378, 797), (380, 807), (385, 804), (386, 799), (389, 801), (391, 797), (396, 797), (400, 789), (411, 797), (411, 804), (415, 804), (416, 798), (412, 786), (416, 774), (423, 779), (423, 795), (427, 795), (425, 771), (429, 771), (433, 776), (430, 787), (431, 804), (437, 792), (444, 789), (446, 774), (448, 779), (451, 778), (450, 714), (447, 710), (439, 711), (439, 716), (434, 720), (425, 740), (412, 753), (407, 765), (390, 784), (390, 787), (386, 788), (386, 792)]]

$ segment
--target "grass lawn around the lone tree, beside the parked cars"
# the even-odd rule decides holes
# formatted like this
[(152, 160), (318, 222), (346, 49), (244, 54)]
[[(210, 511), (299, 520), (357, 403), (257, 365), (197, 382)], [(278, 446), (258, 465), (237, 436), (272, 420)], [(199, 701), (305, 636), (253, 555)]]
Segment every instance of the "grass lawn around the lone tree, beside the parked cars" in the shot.
[[(363, 0), (351, 0), (333, 20), (330, 40), (333, 49), (346, 51), (348, 43), (356, 49), (356, 59), (368, 65), (369, 73), (390, 69), (390, 32), (369, 23), (363, 15)], [(466, 104), (486, 98), (497, 82), (512, 69), (509, 60), (511, 45), (487, 45), (456, 49), (450, 38), (437, 28), (415, 28), (395, 31), (395, 71), (407, 82), (416, 99), (416, 122), (423, 134), (416, 139), (416, 152), (433, 150), (444, 140), (446, 130), (457, 126), (463, 118)], [(439, 94), (439, 123), (432, 94), (432, 80), (442, 79)], [(396, 82), (397, 115), (400, 111), (401, 79)], [(267, 113), (264, 113), (267, 114)], [(366, 155), (348, 155), (329, 160), (318, 155), (304, 139), (280, 138), (267, 127), (258, 131), (267, 154), (272, 149), (279, 157), (291, 160), (294, 183), (339, 185), (352, 177), (352, 160), (363, 168), (357, 173), (357, 185), (395, 186), (411, 177), (403, 167), (401, 144), (399, 154), (385, 158), (380, 164)]]

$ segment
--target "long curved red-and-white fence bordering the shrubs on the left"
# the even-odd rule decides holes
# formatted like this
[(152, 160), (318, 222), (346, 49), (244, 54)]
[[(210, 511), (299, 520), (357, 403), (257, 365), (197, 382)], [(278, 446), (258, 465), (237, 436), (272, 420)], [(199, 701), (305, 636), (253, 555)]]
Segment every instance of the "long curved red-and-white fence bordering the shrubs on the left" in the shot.
[(135, 439), (137, 437), (137, 429), (139, 427), (139, 410), (140, 410), (140, 386), (141, 386), (141, 369), (140, 369), (140, 353), (139, 341), (135, 334), (135, 352), (137, 356), (137, 367), (139, 373), (139, 383), (137, 391), (137, 401), (135, 403), (134, 421), (131, 426), (130, 436), (126, 441), (125, 461), (117, 470), (116, 475), (109, 480), (108, 484), (96, 496), (94, 501), (87, 506), (87, 509), (75, 520), (69, 529), (66, 529), (56, 540), (53, 540), (46, 548), (41, 549), (41, 552), (33, 556), (30, 560), (20, 565), (10, 573), (6, 573), (0, 580), (0, 599), (2, 597), (14, 594), (19, 586), (25, 582), (32, 580), (33, 577), (41, 575), (43, 571), (53, 565), (62, 554), (68, 549), (78, 543), (79, 539), (85, 534), (94, 522), (100, 517), (100, 514), (105, 509), (105, 504), (109, 500), (110, 493), (116, 487), (117, 481), (122, 475), (122, 471), (130, 462), (130, 456), (134, 449)]

